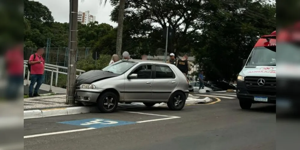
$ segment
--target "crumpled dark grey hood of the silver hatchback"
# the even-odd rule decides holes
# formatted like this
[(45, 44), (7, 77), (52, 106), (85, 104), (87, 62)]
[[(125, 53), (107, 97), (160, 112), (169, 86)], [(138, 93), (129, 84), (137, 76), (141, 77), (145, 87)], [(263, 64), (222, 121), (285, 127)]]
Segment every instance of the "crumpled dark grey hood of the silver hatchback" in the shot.
[(115, 74), (107, 71), (102, 70), (91, 70), (85, 73), (82, 73), (81, 75), (77, 76), (76, 78), (76, 85), (81, 85), (83, 83), (92, 83), (95, 81), (108, 79), (111, 77), (119, 76), (120, 74)]

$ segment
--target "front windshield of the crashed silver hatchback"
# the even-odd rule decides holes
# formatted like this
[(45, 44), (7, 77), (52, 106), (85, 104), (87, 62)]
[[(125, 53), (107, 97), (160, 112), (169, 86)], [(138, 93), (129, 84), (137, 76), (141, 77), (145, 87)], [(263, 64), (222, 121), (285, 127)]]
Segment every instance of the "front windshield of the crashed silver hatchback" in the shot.
[(111, 73), (116, 73), (116, 74), (123, 74), (127, 70), (129, 70), (131, 67), (133, 67), (137, 62), (133, 61), (118, 61), (115, 62), (111, 65), (108, 65), (107, 67), (103, 68), (103, 71), (111, 72)]

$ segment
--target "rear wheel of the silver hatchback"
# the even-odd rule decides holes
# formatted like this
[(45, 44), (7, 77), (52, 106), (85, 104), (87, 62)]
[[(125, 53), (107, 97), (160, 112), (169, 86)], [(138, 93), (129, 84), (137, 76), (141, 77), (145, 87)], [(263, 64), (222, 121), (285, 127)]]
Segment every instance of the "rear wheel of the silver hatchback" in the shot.
[(185, 105), (185, 101), (186, 97), (184, 93), (181, 91), (176, 91), (171, 95), (167, 105), (170, 110), (182, 110)]

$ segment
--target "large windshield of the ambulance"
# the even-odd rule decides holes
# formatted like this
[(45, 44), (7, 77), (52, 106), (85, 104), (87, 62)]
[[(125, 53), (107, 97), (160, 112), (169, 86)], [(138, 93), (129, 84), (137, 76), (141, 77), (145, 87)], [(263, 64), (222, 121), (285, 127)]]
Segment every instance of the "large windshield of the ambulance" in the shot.
[(247, 66), (276, 66), (276, 46), (254, 47)]

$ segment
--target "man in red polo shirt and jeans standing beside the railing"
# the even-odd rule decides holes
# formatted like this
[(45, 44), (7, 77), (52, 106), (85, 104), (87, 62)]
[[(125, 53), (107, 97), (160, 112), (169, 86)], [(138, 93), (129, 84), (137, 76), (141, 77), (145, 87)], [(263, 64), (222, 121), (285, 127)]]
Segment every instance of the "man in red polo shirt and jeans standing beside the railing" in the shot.
[[(40, 89), (44, 81), (44, 70), (45, 70), (45, 59), (42, 56), (44, 54), (44, 48), (37, 48), (36, 53), (32, 54), (29, 58), (28, 63), (31, 65), (30, 68), (30, 85), (29, 85), (29, 97), (36, 97), (38, 95), (38, 90)], [(33, 86), (37, 82), (34, 92), (32, 93)]]

